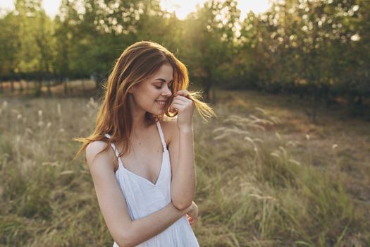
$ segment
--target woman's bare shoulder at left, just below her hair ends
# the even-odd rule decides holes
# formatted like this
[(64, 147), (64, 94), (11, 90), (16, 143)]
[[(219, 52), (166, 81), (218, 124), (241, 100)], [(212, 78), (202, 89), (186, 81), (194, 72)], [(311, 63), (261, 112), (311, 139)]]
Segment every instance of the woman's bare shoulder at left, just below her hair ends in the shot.
[[(115, 154), (111, 148), (106, 149), (106, 142), (101, 140), (93, 141), (86, 147), (86, 160), (90, 170), (97, 166), (97, 164), (106, 164), (100, 166), (100, 169), (113, 169), (115, 167)], [(105, 151), (104, 151), (105, 150)]]

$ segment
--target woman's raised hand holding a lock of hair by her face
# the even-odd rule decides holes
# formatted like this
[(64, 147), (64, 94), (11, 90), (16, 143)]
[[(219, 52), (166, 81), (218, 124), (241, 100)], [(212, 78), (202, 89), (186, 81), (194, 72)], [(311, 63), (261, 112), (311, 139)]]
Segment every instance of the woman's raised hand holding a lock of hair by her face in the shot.
[(175, 95), (170, 105), (170, 112), (178, 112), (177, 123), (180, 130), (192, 130), (194, 102), (188, 98), (190, 94), (187, 90), (180, 90)]

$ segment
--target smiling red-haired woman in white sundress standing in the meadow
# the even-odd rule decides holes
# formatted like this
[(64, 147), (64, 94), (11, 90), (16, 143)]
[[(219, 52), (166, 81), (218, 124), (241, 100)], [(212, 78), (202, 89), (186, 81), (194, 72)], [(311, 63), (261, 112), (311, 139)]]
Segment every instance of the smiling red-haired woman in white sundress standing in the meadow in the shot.
[(166, 48), (132, 44), (109, 76), (94, 133), (76, 139), (113, 246), (199, 246), (192, 114), (214, 112), (188, 83)]

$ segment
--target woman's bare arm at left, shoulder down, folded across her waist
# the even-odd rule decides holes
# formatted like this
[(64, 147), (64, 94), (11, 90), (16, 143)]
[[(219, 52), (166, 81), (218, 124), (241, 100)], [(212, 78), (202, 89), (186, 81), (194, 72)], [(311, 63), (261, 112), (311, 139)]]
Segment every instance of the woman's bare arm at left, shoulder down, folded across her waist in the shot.
[(111, 148), (97, 155), (105, 147), (106, 143), (102, 141), (90, 143), (86, 148), (86, 159), (101, 213), (118, 246), (136, 246), (147, 241), (170, 227), (190, 210), (191, 206), (186, 210), (178, 210), (169, 203), (161, 210), (132, 221), (114, 174), (116, 155)]

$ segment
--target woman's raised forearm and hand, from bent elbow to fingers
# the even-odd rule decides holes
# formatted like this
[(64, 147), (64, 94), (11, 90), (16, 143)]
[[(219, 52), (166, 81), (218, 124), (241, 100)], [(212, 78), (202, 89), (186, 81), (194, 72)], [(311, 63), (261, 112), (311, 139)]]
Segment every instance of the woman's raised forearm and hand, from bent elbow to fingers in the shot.
[(171, 200), (179, 210), (192, 204), (195, 195), (195, 158), (192, 114), (194, 103), (187, 98), (189, 92), (181, 90), (173, 99), (170, 110), (178, 111), (176, 124), (171, 125), (168, 150), (171, 158)]

